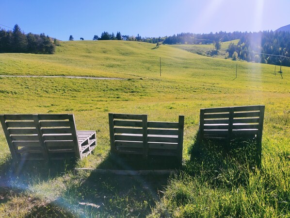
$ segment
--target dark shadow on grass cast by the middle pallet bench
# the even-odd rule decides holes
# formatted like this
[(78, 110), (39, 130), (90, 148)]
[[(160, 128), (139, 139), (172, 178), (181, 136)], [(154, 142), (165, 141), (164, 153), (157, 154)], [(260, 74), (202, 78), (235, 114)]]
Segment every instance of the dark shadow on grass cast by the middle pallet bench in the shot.
[[(168, 169), (177, 160), (143, 161), (140, 156), (109, 155), (98, 168), (119, 170)], [(163, 194), (169, 174), (116, 175), (78, 171), (64, 180), (64, 193), (56, 201), (34, 206), (31, 217), (138, 217), (145, 218)]]

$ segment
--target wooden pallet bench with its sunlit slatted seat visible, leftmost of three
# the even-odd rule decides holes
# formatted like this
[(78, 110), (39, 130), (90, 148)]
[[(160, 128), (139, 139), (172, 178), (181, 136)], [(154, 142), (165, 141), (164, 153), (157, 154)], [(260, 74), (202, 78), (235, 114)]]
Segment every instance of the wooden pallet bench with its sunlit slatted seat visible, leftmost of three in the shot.
[(73, 114), (0, 115), (15, 162), (81, 159), (96, 147), (95, 131), (77, 131)]

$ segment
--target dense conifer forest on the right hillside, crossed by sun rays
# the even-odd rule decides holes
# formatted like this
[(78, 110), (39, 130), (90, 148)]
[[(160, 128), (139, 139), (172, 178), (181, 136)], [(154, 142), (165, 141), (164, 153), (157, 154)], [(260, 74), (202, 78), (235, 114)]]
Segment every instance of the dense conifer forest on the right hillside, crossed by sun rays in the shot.
[(248, 62), (276, 64), (290, 67), (290, 32), (264, 31), (258, 33), (219, 32), (210, 34), (181, 33), (168, 36), (163, 44), (210, 44), (240, 39), (228, 47), (228, 57)]

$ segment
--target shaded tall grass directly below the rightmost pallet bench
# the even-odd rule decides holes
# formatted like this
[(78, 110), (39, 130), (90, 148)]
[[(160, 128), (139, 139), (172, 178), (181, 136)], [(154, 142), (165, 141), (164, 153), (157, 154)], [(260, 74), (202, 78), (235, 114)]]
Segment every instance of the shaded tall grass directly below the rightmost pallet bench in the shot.
[(256, 143), (256, 139), (242, 138), (229, 145), (225, 140), (196, 140), (185, 170), (214, 186), (246, 185), (250, 171), (257, 169)]

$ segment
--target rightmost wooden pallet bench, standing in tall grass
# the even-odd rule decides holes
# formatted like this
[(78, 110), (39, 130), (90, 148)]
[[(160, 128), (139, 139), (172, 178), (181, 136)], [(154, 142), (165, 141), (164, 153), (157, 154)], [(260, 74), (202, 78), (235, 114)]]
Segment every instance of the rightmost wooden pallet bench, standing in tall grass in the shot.
[(257, 139), (256, 161), (261, 164), (265, 105), (200, 109), (199, 139)]

